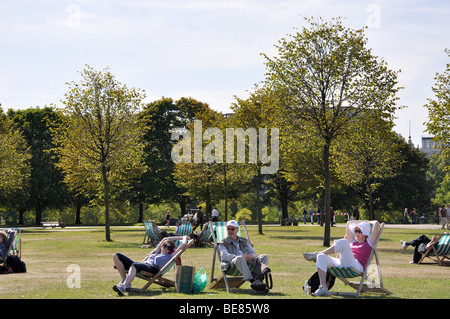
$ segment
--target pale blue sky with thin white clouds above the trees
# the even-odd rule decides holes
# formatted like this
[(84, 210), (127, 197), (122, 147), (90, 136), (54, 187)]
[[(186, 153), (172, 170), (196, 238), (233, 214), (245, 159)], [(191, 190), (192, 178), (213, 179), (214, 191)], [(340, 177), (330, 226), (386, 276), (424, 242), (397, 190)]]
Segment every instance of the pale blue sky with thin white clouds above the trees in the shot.
[(230, 112), (265, 78), (278, 41), (304, 18), (367, 26), (367, 46), (401, 70), (395, 130), (421, 146), (437, 72), (450, 63), (450, 1), (434, 0), (0, 0), (4, 111), (59, 107), (86, 65), (161, 97), (193, 97)]

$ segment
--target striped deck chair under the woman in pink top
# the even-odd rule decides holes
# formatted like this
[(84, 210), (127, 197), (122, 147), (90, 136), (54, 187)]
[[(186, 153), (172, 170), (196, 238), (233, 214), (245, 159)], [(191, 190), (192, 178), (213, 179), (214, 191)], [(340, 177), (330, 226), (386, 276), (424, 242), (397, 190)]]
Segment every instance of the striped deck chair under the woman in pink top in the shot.
[[(353, 239), (353, 233), (349, 229), (349, 225), (359, 224), (363, 221), (353, 220), (347, 222), (347, 231), (345, 238), (350, 242)], [(376, 292), (391, 294), (390, 291), (383, 287), (383, 279), (381, 277), (380, 261), (378, 258), (377, 246), (380, 240), (381, 233), (384, 228), (384, 223), (380, 225), (378, 221), (366, 221), (371, 226), (370, 239), (373, 243), (372, 253), (370, 254), (369, 260), (367, 262), (366, 268), (360, 272), (353, 267), (331, 267), (328, 268), (328, 272), (336, 276), (338, 279), (343, 281), (346, 285), (356, 289), (355, 293), (345, 293), (345, 292), (330, 292), (333, 295), (341, 296), (354, 296), (359, 297), (362, 292)], [(375, 257), (375, 263), (372, 261)], [(359, 281), (350, 282), (350, 278), (361, 278)]]

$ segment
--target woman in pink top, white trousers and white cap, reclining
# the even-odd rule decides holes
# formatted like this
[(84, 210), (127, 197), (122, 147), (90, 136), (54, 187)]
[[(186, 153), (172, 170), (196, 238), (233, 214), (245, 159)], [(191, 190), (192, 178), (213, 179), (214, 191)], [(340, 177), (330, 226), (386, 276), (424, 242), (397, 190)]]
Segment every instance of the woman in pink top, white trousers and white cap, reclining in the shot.
[[(350, 231), (356, 239), (348, 242), (347, 239), (338, 239), (334, 245), (321, 252), (303, 253), (306, 260), (316, 261), (319, 273), (320, 286), (312, 295), (316, 297), (329, 296), (330, 292), (326, 284), (326, 274), (329, 267), (353, 267), (362, 272), (367, 265), (373, 244), (370, 241), (370, 225), (367, 222), (350, 224)], [(331, 254), (339, 253), (339, 258), (331, 257)]]

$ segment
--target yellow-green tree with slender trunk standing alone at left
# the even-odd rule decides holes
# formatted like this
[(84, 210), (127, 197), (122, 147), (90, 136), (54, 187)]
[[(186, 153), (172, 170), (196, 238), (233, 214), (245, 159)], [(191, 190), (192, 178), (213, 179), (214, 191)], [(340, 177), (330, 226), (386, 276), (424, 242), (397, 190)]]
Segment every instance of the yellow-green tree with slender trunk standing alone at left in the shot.
[(53, 130), (72, 190), (95, 195), (105, 205), (105, 237), (110, 236), (111, 195), (145, 171), (143, 133), (137, 110), (144, 93), (127, 88), (105, 69), (87, 66), (80, 83), (69, 83), (62, 123)]

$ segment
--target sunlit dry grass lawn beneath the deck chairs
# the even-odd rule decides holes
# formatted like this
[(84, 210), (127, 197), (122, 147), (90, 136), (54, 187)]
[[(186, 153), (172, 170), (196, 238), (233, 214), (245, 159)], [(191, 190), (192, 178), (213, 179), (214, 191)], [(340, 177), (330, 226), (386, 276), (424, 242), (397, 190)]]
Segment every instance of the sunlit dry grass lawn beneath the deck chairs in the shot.
[[(173, 229), (173, 228), (172, 228)], [(323, 228), (319, 226), (264, 226), (264, 235), (256, 226), (248, 226), (250, 237), (258, 254), (269, 255), (274, 287), (267, 295), (254, 294), (248, 283), (228, 294), (226, 290), (211, 290), (209, 283), (201, 294), (185, 295), (174, 288), (152, 285), (143, 293), (130, 292), (130, 298), (183, 298), (183, 299), (310, 299), (303, 294), (303, 283), (315, 272), (314, 263), (306, 261), (304, 251), (322, 250)], [(332, 239), (344, 236), (344, 227), (332, 227)], [(411, 265), (413, 248), (400, 246), (400, 239), (410, 240), (419, 235), (428, 237), (436, 230), (385, 228), (378, 245), (385, 288), (392, 295), (362, 294), (361, 298), (421, 299), (450, 298), (450, 267), (435, 264)], [(105, 241), (103, 227), (22, 230), (22, 260), (27, 265), (23, 274), (0, 275), (1, 299), (117, 299), (112, 286), (120, 276), (113, 269), (112, 256), (121, 252), (139, 261), (150, 249), (139, 248), (144, 237), (144, 227), (112, 227), (113, 242)], [(183, 257), (184, 265), (205, 267), (208, 279), (211, 274), (212, 248), (190, 248)], [(76, 266), (73, 266), (76, 265)], [(72, 267), (79, 267), (80, 288), (69, 288)], [(218, 273), (216, 265), (216, 274)], [(167, 277), (174, 278), (170, 270)], [(136, 278), (134, 288), (146, 281)], [(332, 291), (354, 290), (336, 280)], [(344, 298), (344, 297), (330, 297)]]

